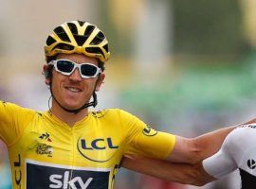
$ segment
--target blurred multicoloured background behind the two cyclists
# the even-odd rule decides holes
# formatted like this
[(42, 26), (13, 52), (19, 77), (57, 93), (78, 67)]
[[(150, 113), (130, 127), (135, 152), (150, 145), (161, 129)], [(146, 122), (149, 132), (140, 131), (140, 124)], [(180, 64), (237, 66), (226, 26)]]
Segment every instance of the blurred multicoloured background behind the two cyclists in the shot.
[[(48, 109), (47, 34), (85, 20), (106, 34), (111, 59), (98, 109), (121, 108), (152, 128), (193, 137), (255, 117), (255, 0), (0, 0), (0, 99)], [(0, 188), (11, 188), (0, 144)], [(116, 189), (199, 188), (120, 169)], [(205, 189), (240, 188), (237, 172)]]

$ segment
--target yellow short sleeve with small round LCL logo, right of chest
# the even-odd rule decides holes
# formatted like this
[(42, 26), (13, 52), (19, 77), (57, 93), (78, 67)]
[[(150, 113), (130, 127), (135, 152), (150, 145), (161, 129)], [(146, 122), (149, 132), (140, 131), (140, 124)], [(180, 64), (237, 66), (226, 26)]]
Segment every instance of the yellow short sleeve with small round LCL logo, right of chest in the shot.
[(150, 128), (136, 116), (120, 111), (122, 127), (126, 132), (125, 154), (137, 154), (147, 157), (166, 159), (175, 143), (173, 134)]

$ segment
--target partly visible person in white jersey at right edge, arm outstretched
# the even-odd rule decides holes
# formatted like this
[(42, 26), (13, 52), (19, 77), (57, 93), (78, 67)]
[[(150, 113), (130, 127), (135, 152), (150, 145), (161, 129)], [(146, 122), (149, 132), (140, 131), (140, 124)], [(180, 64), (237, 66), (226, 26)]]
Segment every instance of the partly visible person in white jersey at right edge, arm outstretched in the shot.
[(256, 120), (232, 130), (220, 150), (201, 163), (167, 163), (138, 156), (125, 156), (122, 166), (184, 184), (204, 185), (239, 169), (241, 188), (253, 189), (256, 185)]

